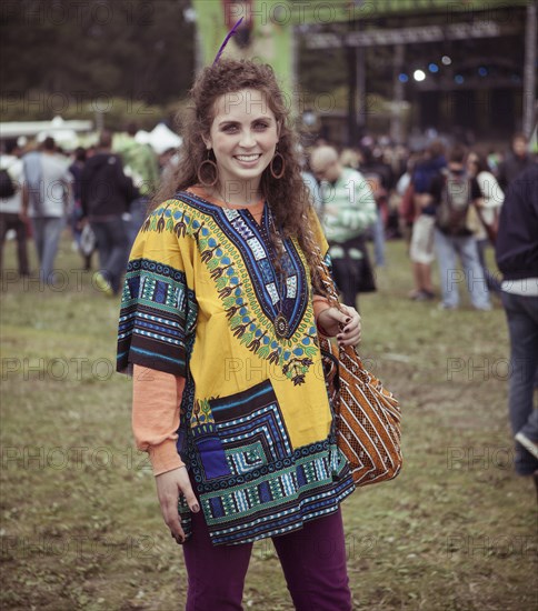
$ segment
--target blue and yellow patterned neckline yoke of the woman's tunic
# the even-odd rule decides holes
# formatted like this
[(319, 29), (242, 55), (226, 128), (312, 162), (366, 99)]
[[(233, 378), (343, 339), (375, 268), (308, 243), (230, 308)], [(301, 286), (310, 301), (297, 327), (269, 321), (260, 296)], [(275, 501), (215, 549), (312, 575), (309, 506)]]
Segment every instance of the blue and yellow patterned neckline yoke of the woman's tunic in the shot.
[[(258, 226), (247, 210), (221, 209), (183, 192), (178, 197), (181, 200), (158, 208), (143, 231), (193, 238), (233, 335), (259, 358), (278, 364), (295, 384), (302, 383), (318, 352), (318, 335), (313, 311), (308, 308), (307, 266), (296, 241), (287, 239), (283, 244), (287, 282), (280, 296), (271, 262), (267, 206)], [(275, 334), (279, 308), (289, 322), (285, 339)]]

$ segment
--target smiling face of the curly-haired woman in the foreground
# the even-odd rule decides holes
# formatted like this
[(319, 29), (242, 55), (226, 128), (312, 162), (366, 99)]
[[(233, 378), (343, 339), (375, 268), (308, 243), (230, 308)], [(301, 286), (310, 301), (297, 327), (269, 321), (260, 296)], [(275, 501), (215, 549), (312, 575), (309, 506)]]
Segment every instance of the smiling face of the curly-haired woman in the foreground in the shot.
[(241, 89), (215, 102), (215, 119), (203, 141), (212, 148), (221, 188), (258, 189), (278, 142), (278, 124), (265, 93)]

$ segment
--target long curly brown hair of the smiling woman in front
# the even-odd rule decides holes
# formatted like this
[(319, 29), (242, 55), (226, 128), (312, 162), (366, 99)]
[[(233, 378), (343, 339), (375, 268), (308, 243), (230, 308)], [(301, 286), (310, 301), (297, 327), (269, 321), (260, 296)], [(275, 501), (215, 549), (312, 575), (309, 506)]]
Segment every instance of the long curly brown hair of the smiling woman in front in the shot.
[[(309, 218), (313, 212), (310, 191), (301, 177), (301, 168), (296, 151), (298, 134), (290, 120), (290, 111), (275, 72), (269, 64), (250, 60), (221, 59), (206, 67), (198, 74), (190, 90), (191, 104), (188, 112), (180, 112), (177, 122), (183, 137), (179, 164), (160, 184), (151, 208), (157, 208), (177, 191), (200, 182), (198, 172), (207, 159), (208, 151), (202, 137), (208, 138), (215, 119), (216, 101), (223, 94), (242, 89), (255, 89), (265, 94), (277, 123), (280, 126), (278, 152), (283, 158), (283, 176), (275, 179), (266, 168), (260, 179), (260, 191), (272, 212), (276, 226), (282, 238), (295, 237), (307, 258), (313, 286), (320, 292), (319, 249), (311, 232)], [(278, 170), (280, 171), (280, 166)], [(275, 243), (278, 238), (272, 237)], [(278, 267), (280, 267), (278, 262)]]

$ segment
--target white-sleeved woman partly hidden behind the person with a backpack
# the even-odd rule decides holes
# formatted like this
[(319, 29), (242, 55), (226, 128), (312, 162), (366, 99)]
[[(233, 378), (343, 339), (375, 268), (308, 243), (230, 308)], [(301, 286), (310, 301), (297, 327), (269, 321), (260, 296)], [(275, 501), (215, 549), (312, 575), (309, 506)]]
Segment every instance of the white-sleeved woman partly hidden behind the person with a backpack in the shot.
[[(480, 211), (478, 212), (471, 209), (471, 228), (474, 229), (475, 238), (478, 247), (478, 258), (480, 266), (486, 277), (486, 283), (488, 289), (497, 296), (500, 296), (500, 282), (495, 273), (492, 273), (486, 263), (486, 249), (490, 246), (490, 239), (486, 231), (486, 224), (488, 226), (489, 233), (497, 231), (498, 218), (500, 214), (500, 207), (505, 201), (505, 193), (499, 187), (497, 179), (491, 173), (488, 162), (482, 154), (471, 151), (467, 157), (467, 171), (471, 179), (476, 179), (482, 198), (479, 201)], [(486, 224), (485, 224), (486, 223)]]

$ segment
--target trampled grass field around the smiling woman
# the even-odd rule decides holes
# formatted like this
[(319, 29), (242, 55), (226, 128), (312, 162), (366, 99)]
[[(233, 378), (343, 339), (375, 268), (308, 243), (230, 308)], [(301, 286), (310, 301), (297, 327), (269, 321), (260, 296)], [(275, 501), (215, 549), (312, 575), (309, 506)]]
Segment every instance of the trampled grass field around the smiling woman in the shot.
[[(511, 470), (504, 312), (412, 303), (402, 242), (388, 260), (360, 300), (361, 352), (400, 399), (405, 467), (342, 505), (355, 608), (538, 609), (536, 493)], [(77, 270), (67, 237), (57, 264), (57, 290), (9, 271), (2, 286), (0, 607), (182, 609), (181, 549), (133, 450), (130, 383), (113, 373), (118, 302)], [(255, 547), (245, 605), (292, 609), (270, 542)]]

